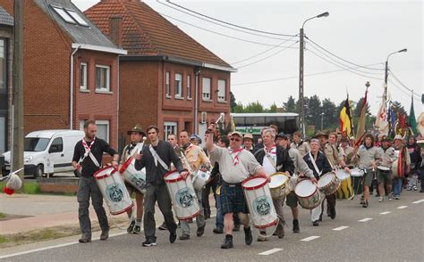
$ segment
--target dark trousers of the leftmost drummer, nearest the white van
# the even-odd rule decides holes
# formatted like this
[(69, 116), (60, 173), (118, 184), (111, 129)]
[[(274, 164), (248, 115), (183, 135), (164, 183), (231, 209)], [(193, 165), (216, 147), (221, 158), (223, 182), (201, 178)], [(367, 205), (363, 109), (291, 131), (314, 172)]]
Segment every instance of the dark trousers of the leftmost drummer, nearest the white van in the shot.
[(77, 200), (79, 203), (78, 218), (80, 220), (81, 233), (91, 237), (91, 222), (89, 221), (89, 197), (98, 215), (98, 224), (102, 231), (109, 229), (106, 211), (103, 207), (103, 196), (98, 188), (94, 176), (81, 176), (78, 184)]

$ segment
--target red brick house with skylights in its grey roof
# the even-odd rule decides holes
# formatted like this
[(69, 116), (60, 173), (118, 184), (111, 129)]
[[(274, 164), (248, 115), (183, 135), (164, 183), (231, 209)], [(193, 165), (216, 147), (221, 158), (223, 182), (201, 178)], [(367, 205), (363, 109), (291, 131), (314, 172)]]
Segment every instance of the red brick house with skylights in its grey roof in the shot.
[[(0, 0), (13, 14), (13, 1)], [(24, 132), (80, 129), (98, 122), (98, 136), (117, 146), (119, 55), (70, 0), (25, 0)]]

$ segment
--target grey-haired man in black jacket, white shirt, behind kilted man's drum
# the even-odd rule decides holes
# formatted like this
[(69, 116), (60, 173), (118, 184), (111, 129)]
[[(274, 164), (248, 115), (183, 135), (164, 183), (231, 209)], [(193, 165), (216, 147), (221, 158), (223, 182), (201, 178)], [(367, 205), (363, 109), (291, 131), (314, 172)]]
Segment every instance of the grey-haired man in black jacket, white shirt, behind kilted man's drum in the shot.
[[(262, 165), (265, 173), (271, 176), (276, 172), (283, 172), (287, 176), (293, 176), (293, 160), (290, 158), (288, 151), (276, 144), (276, 131), (273, 128), (265, 129), (262, 132), (262, 140), (264, 148), (255, 152), (255, 158)], [(285, 225), (283, 213), (284, 198), (273, 199), (273, 203), (279, 218), (276, 234), (278, 238), (283, 238)], [(267, 238), (259, 234), (258, 241), (264, 242), (267, 241)]]

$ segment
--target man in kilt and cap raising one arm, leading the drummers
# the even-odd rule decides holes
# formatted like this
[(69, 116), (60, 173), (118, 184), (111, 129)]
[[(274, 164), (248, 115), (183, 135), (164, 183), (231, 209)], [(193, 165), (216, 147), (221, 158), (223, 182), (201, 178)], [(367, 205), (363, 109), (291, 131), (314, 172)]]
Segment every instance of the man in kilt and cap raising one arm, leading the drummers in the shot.
[(230, 135), (230, 147), (227, 149), (214, 144), (216, 125), (211, 124), (208, 129), (212, 132), (208, 136), (206, 147), (210, 160), (218, 162), (223, 179), (219, 197), (224, 214), (225, 242), (221, 249), (233, 248), (233, 213), (239, 214), (244, 225), (244, 242), (250, 245), (253, 239), (242, 181), (252, 175), (267, 177), (267, 174), (253, 154), (242, 148), (242, 133), (235, 131)]

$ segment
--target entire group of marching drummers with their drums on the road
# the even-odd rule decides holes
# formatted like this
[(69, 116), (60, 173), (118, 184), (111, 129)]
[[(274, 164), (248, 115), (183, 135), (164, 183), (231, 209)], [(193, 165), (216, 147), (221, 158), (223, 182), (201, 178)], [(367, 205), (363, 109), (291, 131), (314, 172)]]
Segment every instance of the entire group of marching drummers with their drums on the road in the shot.
[[(292, 211), (293, 233), (300, 233), (299, 206), (310, 210), (311, 223), (318, 226), (325, 202), (331, 219), (336, 216), (337, 200), (358, 196), (359, 204), (369, 208), (375, 180), (379, 202), (386, 196), (389, 201), (399, 200), (403, 185), (417, 191), (422, 160), (415, 138), (404, 143), (400, 135), (394, 136), (392, 143), (386, 136), (379, 135), (375, 142), (373, 135), (366, 134), (361, 143), (355, 143), (335, 132), (318, 132), (303, 141), (300, 132), (291, 136), (278, 133), (276, 127), (265, 127), (261, 144), (255, 146), (250, 134), (218, 135), (216, 124), (210, 124), (206, 146), (201, 148), (199, 135), (186, 130), (180, 132), (179, 143), (175, 134), (166, 134), (165, 142), (159, 139), (158, 127), (150, 126), (145, 133), (136, 125), (128, 131), (131, 143), (124, 147), (118, 166), (116, 151), (96, 137), (96, 124), (86, 122), (84, 131), (72, 161), (81, 172), (77, 193), (80, 242), (91, 242), (90, 196), (102, 229), (101, 240), (106, 240), (109, 232), (103, 200), (112, 215), (128, 214), (127, 232), (142, 231), (144, 247), (157, 245), (156, 203), (165, 219), (159, 228), (169, 231), (169, 242), (175, 242), (178, 227), (182, 231), (179, 240), (190, 239), (193, 218), (200, 237), (210, 218), (205, 198), (209, 199), (211, 190), (216, 205), (213, 232), (225, 233), (222, 249), (233, 248), (233, 231), (240, 225), (247, 245), (253, 242), (252, 230), (258, 232), (258, 242), (273, 234), (281, 239), (287, 226), (284, 201)], [(111, 167), (98, 164), (103, 152), (114, 157)], [(422, 181), (420, 192), (424, 192)], [(131, 194), (136, 199), (135, 217)]]

